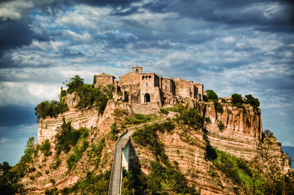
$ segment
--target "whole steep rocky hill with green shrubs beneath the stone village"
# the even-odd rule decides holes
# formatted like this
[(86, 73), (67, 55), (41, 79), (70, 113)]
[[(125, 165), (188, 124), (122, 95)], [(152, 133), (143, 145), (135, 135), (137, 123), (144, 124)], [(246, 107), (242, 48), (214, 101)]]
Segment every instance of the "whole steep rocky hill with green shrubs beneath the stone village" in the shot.
[(108, 194), (115, 146), (131, 132), (121, 194), (293, 194), (288, 155), (256, 107), (185, 98), (159, 109), (81, 86), (61, 90), (58, 111), (48, 103), (36, 145), (9, 171), (24, 193)]

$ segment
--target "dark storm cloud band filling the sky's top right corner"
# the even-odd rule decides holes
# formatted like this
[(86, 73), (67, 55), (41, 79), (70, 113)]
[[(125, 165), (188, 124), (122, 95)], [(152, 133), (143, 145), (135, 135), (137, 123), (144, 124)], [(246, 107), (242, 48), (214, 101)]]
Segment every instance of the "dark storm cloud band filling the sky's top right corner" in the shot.
[[(277, 4), (280, 10), (275, 7)], [(183, 17), (229, 24), (294, 24), (294, 4), (290, 1), (155, 1), (143, 5), (143, 8), (156, 13), (177, 12)]]

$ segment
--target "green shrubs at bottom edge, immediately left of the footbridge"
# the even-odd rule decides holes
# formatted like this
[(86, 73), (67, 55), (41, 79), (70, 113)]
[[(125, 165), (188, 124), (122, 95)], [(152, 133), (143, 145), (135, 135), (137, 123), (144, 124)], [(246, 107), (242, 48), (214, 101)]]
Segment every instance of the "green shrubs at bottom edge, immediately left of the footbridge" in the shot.
[(110, 181), (111, 170), (107, 170), (101, 174), (88, 172), (86, 177), (77, 181), (71, 188), (64, 188), (61, 194), (108, 194), (108, 186)]

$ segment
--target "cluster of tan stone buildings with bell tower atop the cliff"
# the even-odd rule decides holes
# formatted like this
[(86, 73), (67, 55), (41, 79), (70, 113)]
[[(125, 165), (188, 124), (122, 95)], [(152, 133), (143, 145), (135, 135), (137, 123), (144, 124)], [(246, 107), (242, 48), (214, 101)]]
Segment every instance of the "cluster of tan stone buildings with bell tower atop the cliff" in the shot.
[[(96, 77), (95, 87), (113, 84), (116, 93), (122, 91), (122, 101), (151, 107), (172, 106), (185, 98), (203, 100), (203, 85), (181, 78), (159, 77), (155, 73), (143, 73), (141, 66), (132, 67), (132, 72), (114, 80), (113, 75), (101, 73)], [(118, 96), (116, 96), (118, 97)]]

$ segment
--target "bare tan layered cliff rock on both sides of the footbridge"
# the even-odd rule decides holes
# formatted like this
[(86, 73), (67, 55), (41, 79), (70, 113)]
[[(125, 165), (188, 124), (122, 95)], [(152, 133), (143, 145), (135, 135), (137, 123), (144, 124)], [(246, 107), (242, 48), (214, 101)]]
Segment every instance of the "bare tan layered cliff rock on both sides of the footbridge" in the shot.
[[(131, 104), (108, 101), (104, 113), (98, 114), (95, 109), (76, 111), (74, 106), (77, 100), (74, 95), (67, 95), (66, 102), (69, 105), (69, 111), (57, 118), (46, 118), (39, 122), (37, 144), (49, 139), (53, 154), (45, 159), (44, 155), (39, 152), (38, 157), (34, 159), (33, 166), (42, 175), (32, 180), (30, 176), (35, 175), (35, 173), (30, 173), (22, 180), (26, 188), (31, 190), (29, 194), (42, 193), (44, 189), (54, 185), (58, 189), (70, 187), (79, 179), (84, 178), (87, 171), (96, 170), (98, 174), (111, 169), (115, 141), (108, 138), (98, 164), (95, 164), (96, 162), (91, 157), (83, 154), (74, 171), (68, 172), (66, 159), (71, 151), (69, 154), (61, 153), (61, 165), (56, 170), (50, 169), (50, 164), (56, 160), (53, 149), (55, 147), (54, 136), (56, 128), (63, 123), (63, 117), (66, 122), (71, 121), (71, 125), (75, 129), (79, 127), (91, 129), (87, 140), (89, 143), (94, 143), (95, 140), (109, 135), (110, 126), (113, 122), (119, 123), (123, 119), (116, 116), (115, 109), (124, 110), (128, 115), (132, 115), (133, 112), (158, 113), (158, 109), (154, 108), (133, 105), (132, 109)], [(208, 159), (206, 150), (208, 145), (233, 154), (247, 163), (256, 162), (258, 159), (257, 162), (262, 164), (262, 169), (271, 165), (279, 167), (283, 173), (290, 170), (287, 156), (281, 151), (278, 142), (272, 138), (265, 138), (262, 134), (260, 110), (255, 110), (249, 105), (245, 105), (244, 108), (238, 108), (231, 104), (222, 105), (222, 113), (216, 112), (214, 104), (210, 102), (195, 105), (203, 117), (209, 117), (211, 120), (211, 123), (204, 123), (200, 129), (191, 128), (183, 122), (178, 122), (172, 132), (157, 132), (158, 138), (164, 144), (169, 161), (175, 160), (179, 163), (179, 170), (184, 174), (189, 184), (195, 184), (197, 188), (201, 187), (201, 194), (234, 194), (235, 184), (225, 174), (218, 171)], [(222, 132), (217, 126), (219, 121), (222, 121), (225, 125)], [(123, 129), (121, 132), (123, 132)], [(150, 162), (155, 158), (148, 148), (138, 144), (134, 144), (134, 146), (140, 167), (143, 173), (148, 174)], [(45, 174), (45, 169), (50, 170), (50, 172)], [(212, 171), (217, 176), (211, 174)], [(50, 179), (54, 179), (55, 184)], [(241, 194), (244, 194), (244, 192)]]

